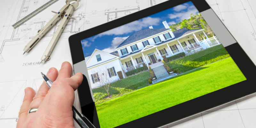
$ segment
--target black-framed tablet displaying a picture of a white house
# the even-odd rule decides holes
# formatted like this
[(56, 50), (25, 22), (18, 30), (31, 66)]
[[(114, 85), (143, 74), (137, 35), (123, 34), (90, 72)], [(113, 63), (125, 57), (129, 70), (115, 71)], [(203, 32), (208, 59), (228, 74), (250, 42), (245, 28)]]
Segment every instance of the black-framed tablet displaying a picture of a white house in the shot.
[(255, 65), (204, 0), (106, 17), (69, 37), (96, 128), (157, 128), (256, 92)]

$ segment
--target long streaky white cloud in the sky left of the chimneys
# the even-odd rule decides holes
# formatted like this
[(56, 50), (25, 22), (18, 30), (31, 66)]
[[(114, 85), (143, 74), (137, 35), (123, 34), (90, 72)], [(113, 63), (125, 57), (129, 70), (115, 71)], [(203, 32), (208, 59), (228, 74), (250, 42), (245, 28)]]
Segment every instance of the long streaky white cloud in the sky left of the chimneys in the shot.
[(108, 30), (106, 32), (100, 33), (96, 36), (93, 36), (92, 38), (89, 38), (90, 40), (94, 41), (94, 39), (101, 37), (103, 35), (123, 35), (130, 32), (139, 31), (144, 27), (148, 27), (149, 25), (158, 25), (160, 23), (160, 18), (152, 18), (152, 17), (146, 17), (142, 18), (141, 20), (136, 20), (131, 23), (125, 24), (123, 26)]

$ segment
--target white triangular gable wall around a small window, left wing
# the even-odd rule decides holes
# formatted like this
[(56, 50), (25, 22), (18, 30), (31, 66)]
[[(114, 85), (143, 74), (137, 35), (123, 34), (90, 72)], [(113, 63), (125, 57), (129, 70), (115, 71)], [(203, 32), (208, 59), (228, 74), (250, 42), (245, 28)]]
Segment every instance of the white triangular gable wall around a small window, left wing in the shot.
[[(100, 54), (100, 57), (101, 57), (101, 61), (97, 61), (96, 59), (96, 55), (99, 55)], [(96, 64), (99, 64), (99, 63), (102, 63), (104, 61), (107, 61), (107, 60), (110, 60), (110, 59), (113, 59), (113, 58), (116, 58), (110, 54), (106, 54), (104, 52), (100, 52), (100, 51), (95, 51), (92, 55), (91, 55), (91, 59), (89, 60), (89, 62), (86, 64), (86, 66), (89, 68), (93, 65), (96, 65)]]

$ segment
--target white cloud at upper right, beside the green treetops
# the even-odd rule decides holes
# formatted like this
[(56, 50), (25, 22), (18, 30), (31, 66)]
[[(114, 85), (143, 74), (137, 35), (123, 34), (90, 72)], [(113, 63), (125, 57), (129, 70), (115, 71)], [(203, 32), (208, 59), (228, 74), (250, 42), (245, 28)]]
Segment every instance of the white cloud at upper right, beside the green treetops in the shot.
[(180, 22), (181, 20), (189, 19), (191, 13), (196, 14), (197, 12), (198, 12), (198, 10), (196, 9), (196, 7), (194, 5), (192, 5), (192, 6), (188, 6), (187, 11), (168, 14), (168, 17), (170, 19), (176, 19), (178, 22)]

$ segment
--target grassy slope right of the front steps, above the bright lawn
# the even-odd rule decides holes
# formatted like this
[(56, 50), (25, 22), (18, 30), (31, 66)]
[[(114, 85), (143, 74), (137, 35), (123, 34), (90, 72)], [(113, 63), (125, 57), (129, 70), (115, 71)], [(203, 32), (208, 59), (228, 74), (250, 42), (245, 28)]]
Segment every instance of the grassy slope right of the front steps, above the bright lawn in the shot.
[(230, 55), (226, 49), (222, 45), (217, 45), (204, 51), (173, 60), (168, 63), (168, 66), (171, 69), (179, 69), (180, 72), (184, 73), (228, 57)]

